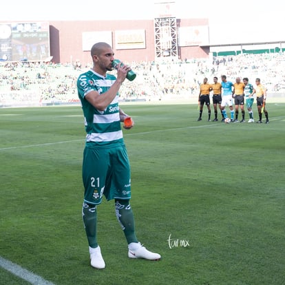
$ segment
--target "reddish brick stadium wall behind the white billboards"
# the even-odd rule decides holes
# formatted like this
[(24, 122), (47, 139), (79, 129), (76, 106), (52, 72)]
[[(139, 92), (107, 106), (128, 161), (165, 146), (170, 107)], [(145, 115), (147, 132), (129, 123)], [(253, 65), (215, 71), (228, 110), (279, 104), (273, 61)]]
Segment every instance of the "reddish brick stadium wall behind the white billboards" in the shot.
[[(208, 26), (208, 19), (176, 19), (177, 27)], [(83, 51), (83, 32), (119, 30), (145, 30), (145, 48), (116, 50), (115, 55), (123, 61), (154, 61), (156, 59), (154, 20), (146, 21), (50, 21), (50, 55), (55, 63), (80, 61), (83, 65), (92, 63), (89, 51)], [(90, 47), (91, 48), (91, 47)], [(209, 46), (178, 45), (178, 58), (208, 58)]]

